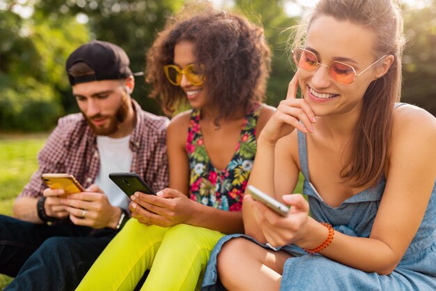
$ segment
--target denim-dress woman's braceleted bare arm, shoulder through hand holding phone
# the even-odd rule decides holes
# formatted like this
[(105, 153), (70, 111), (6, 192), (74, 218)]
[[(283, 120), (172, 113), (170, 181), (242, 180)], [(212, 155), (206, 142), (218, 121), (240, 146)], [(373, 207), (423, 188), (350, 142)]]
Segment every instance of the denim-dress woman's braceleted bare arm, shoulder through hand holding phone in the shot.
[[(350, 237), (336, 232), (332, 244), (320, 253), (336, 262), (378, 274), (390, 274), (421, 224), (436, 177), (436, 119), (428, 112), (401, 108), (396, 112), (389, 159), (389, 174), (380, 207), (369, 238)], [(306, 214), (304, 201), (283, 200), (293, 205), (295, 214)], [(315, 248), (327, 237), (327, 229), (296, 215), (280, 218), (263, 205), (258, 221), (273, 245), (295, 243)], [(255, 208), (256, 208), (255, 207)], [(298, 209), (299, 208), (299, 209)]]

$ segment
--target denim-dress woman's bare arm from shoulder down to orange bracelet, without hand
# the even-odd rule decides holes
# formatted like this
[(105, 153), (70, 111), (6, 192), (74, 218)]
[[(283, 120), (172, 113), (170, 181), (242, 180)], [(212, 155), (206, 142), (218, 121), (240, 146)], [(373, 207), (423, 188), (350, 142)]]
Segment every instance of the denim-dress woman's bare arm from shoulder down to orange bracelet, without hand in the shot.
[(396, 110), (389, 176), (369, 239), (339, 234), (323, 254), (364, 271), (390, 274), (426, 211), (436, 177), (435, 144), (433, 116), (412, 106)]

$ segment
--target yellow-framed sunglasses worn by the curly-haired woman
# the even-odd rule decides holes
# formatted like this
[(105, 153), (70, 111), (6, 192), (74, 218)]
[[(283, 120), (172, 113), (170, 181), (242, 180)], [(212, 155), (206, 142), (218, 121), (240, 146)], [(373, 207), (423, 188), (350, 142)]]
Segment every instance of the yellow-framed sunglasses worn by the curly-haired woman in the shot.
[(196, 65), (190, 64), (185, 66), (185, 68), (180, 68), (175, 65), (166, 65), (164, 66), (164, 72), (166, 78), (169, 80), (171, 84), (174, 86), (180, 86), (180, 82), (182, 82), (182, 75), (185, 74), (189, 83), (194, 86), (200, 86), (203, 84), (204, 76), (203, 76), (204, 65)]

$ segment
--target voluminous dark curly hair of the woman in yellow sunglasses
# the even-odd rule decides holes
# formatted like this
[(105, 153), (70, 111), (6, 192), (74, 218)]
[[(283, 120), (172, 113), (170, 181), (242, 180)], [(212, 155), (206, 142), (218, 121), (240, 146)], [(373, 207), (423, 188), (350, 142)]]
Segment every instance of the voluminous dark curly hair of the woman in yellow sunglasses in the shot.
[(235, 13), (217, 11), (210, 4), (188, 4), (171, 17), (147, 52), (146, 82), (150, 96), (159, 98), (172, 114), (187, 102), (185, 93), (166, 80), (164, 66), (173, 64), (174, 47), (181, 41), (194, 45), (196, 64), (203, 64), (203, 86), (219, 117), (227, 119), (240, 107), (246, 111), (255, 100), (265, 98), (271, 53), (263, 28)]

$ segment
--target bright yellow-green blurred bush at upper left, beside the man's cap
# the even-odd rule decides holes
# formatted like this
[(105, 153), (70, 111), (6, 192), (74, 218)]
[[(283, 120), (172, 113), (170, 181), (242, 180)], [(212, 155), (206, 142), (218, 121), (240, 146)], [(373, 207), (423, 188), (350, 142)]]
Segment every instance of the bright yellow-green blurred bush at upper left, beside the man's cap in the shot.
[(63, 113), (65, 57), (88, 39), (72, 17), (45, 18), (25, 1), (3, 1), (0, 9), (1, 130), (46, 130)]

